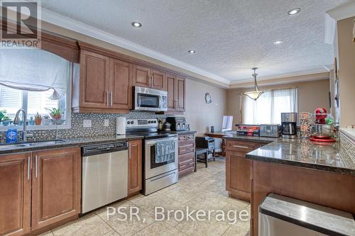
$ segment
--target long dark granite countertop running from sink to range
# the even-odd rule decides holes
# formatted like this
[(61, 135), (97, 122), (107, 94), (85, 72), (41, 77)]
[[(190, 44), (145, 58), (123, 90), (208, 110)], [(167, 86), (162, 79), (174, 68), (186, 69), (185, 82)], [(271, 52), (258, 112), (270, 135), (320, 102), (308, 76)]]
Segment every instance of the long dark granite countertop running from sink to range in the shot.
[(70, 138), (70, 139), (61, 139), (65, 142), (58, 141), (58, 142), (53, 142), (51, 144), (45, 142), (35, 142), (36, 143), (35, 146), (26, 146), (26, 147), (16, 147), (13, 145), (0, 145), (0, 155), (16, 153), (16, 152), (31, 152), (35, 150), (48, 150), (48, 149), (61, 148), (61, 147), (81, 147), (86, 145), (97, 145), (97, 144), (109, 143), (109, 142), (139, 140), (143, 138), (144, 137), (140, 135), (116, 135), (116, 136), (77, 137), (77, 138)]

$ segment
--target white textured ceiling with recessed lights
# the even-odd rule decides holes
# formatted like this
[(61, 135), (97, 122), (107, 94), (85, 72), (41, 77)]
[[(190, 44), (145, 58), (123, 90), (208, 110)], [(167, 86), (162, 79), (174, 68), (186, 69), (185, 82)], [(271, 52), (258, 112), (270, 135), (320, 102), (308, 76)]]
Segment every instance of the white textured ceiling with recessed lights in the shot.
[[(231, 81), (332, 64), (324, 13), (348, 0), (43, 0), (45, 9)], [(288, 11), (300, 8), (295, 16)], [(139, 21), (142, 28), (131, 27)], [(282, 45), (273, 45), (283, 40)], [(187, 50), (196, 50), (189, 55)]]

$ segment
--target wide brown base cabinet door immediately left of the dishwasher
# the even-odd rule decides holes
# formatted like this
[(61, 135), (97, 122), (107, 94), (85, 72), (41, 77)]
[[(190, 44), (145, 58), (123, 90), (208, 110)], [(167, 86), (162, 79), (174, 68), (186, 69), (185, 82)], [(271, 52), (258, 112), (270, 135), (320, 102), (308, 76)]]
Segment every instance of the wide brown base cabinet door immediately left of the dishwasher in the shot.
[(32, 154), (32, 229), (80, 213), (80, 147)]

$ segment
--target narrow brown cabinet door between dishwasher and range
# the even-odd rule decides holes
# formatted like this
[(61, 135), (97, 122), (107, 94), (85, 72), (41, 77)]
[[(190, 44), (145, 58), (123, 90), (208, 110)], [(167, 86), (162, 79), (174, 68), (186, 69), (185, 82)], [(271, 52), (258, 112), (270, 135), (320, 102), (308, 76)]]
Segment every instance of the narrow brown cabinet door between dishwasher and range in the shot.
[(129, 141), (128, 194), (142, 189), (142, 140)]

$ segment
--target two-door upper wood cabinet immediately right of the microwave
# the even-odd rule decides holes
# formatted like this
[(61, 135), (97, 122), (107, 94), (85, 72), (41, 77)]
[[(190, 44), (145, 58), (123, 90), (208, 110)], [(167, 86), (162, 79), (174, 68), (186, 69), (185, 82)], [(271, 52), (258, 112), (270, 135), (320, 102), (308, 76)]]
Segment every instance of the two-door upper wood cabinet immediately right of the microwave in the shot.
[(168, 113), (185, 111), (185, 78), (174, 74), (166, 75), (166, 90), (168, 91)]

